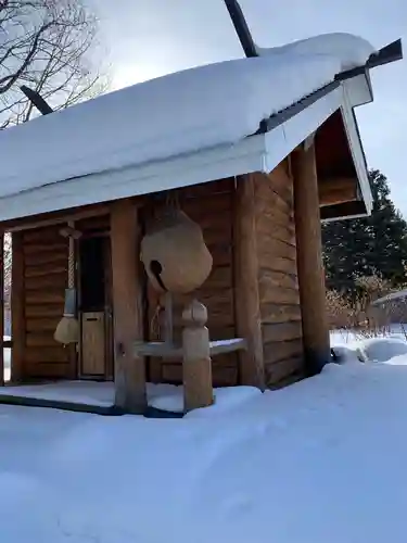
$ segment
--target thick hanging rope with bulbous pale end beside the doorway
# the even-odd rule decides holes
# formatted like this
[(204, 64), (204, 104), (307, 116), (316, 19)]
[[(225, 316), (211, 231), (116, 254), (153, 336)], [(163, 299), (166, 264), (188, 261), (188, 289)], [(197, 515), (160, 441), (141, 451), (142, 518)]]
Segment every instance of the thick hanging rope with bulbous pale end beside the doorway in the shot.
[(64, 314), (53, 337), (59, 343), (67, 345), (79, 341), (79, 324), (76, 318), (75, 239), (80, 237), (80, 232), (69, 223), (67, 228), (61, 230), (61, 235), (69, 239), (68, 288), (65, 290)]

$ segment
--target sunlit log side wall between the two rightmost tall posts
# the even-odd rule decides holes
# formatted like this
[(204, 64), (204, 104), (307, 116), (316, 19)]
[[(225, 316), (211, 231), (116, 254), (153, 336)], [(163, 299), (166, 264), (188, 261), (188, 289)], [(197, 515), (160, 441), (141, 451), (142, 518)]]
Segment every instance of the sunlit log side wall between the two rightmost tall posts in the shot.
[(266, 386), (304, 375), (293, 182), (288, 161), (256, 174), (258, 290)]

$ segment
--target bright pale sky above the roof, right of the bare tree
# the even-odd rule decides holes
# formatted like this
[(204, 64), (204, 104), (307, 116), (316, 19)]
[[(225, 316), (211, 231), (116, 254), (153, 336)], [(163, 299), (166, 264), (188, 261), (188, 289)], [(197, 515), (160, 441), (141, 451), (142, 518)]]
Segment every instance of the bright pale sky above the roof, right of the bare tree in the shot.
[[(93, 0), (107, 43), (114, 88), (170, 72), (243, 56), (224, 0)], [(380, 48), (404, 39), (405, 0), (240, 0), (256, 43), (275, 47), (330, 31), (347, 31)], [(376, 68), (374, 102), (357, 116), (370, 167), (389, 178), (407, 216), (407, 61)]]

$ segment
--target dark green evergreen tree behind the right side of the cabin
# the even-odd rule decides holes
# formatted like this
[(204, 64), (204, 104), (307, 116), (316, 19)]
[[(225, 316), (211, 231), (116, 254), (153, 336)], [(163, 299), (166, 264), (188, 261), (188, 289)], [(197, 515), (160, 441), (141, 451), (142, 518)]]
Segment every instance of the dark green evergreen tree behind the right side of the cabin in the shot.
[(379, 274), (394, 286), (406, 281), (407, 223), (390, 198), (384, 175), (371, 171), (369, 180), (371, 216), (322, 226), (327, 285), (339, 291), (355, 291), (357, 276)]

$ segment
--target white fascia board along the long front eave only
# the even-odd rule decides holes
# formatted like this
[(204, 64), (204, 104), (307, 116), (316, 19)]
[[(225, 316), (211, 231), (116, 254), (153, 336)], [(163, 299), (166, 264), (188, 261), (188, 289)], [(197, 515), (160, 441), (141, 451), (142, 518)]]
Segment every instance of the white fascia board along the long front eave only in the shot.
[(143, 166), (91, 174), (0, 199), (0, 220), (234, 177), (264, 168), (265, 137), (253, 136)]

